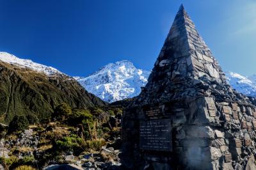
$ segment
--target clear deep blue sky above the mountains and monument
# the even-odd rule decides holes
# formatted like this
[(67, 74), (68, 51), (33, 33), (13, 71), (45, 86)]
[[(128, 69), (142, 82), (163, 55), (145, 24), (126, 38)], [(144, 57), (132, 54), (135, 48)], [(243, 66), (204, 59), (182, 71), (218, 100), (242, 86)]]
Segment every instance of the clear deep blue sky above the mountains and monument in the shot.
[(223, 70), (256, 73), (254, 0), (0, 0), (0, 50), (69, 75), (122, 59), (150, 70), (181, 3)]

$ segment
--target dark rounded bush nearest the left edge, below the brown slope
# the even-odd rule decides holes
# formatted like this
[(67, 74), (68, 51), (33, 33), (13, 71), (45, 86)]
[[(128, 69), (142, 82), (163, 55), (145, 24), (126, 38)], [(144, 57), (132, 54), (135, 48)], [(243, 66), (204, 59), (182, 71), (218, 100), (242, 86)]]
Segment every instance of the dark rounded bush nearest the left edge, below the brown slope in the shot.
[(14, 116), (13, 120), (9, 124), (8, 131), (10, 133), (17, 132), (28, 128), (29, 122), (25, 116)]

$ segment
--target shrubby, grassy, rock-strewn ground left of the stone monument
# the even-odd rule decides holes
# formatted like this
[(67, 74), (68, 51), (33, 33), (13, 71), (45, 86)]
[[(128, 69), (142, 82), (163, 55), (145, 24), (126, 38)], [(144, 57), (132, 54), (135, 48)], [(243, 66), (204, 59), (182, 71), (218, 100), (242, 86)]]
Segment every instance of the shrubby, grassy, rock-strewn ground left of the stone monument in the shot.
[(72, 109), (67, 104), (58, 105), (49, 120), (39, 120), (35, 114), (15, 116), (1, 134), (6, 155), (0, 164), (5, 169), (42, 169), (92, 161), (84, 157), (93, 153), (102, 162), (116, 160), (102, 152), (102, 146), (119, 149), (121, 117), (122, 107)]

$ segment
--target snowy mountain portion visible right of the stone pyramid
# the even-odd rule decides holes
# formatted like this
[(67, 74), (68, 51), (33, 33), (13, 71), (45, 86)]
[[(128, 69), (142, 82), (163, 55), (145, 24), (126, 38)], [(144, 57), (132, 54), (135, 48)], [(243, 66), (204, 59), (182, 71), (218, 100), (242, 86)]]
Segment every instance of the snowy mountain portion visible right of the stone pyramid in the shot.
[(225, 72), (232, 88), (250, 97), (256, 97), (256, 75), (245, 77), (239, 73)]

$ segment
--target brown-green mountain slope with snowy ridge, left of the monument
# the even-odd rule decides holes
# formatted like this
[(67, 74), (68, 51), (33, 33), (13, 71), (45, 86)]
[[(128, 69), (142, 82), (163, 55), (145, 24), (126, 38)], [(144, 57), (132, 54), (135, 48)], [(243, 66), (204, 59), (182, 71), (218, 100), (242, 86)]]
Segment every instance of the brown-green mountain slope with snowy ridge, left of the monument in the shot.
[(16, 114), (48, 118), (65, 102), (74, 107), (104, 105), (75, 79), (55, 68), (0, 53), (0, 121), (10, 122)]

